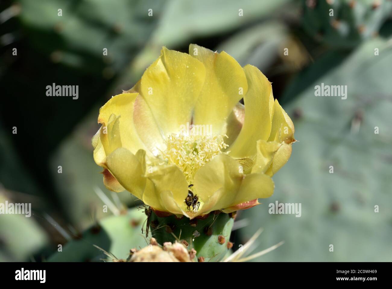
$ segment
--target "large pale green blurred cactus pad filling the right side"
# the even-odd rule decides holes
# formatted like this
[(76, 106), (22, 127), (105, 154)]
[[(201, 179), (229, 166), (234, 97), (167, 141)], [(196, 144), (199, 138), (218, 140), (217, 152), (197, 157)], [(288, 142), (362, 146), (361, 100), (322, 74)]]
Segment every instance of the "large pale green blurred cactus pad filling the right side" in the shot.
[[(376, 48), (379, 56), (374, 55)], [(328, 53), (315, 61), (285, 93), (285, 97), (296, 96), (283, 104), (286, 112), (290, 116), (302, 112), (293, 117), (299, 142), (293, 144), (287, 164), (274, 175), (274, 195), (241, 212), (241, 218), (257, 221), (236, 231), (235, 247), (260, 227), (265, 234), (255, 251), (280, 241), (285, 245), (255, 262), (392, 260), (392, 50), (385, 40), (370, 40), (336, 69), (318, 74), (341, 55)], [(303, 89), (305, 82), (308, 86)], [(315, 97), (314, 86), (321, 82), (347, 84), (347, 99)], [(270, 214), (268, 204), (275, 201), (302, 203), (301, 217)], [(376, 205), (379, 212), (375, 212)]]

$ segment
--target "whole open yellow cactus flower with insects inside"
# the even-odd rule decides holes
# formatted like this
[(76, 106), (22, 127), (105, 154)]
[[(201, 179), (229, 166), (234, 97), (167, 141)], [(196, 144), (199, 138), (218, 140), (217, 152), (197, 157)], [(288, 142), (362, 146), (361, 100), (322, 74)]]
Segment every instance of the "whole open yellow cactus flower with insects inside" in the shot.
[(258, 68), (194, 44), (189, 54), (163, 47), (133, 88), (102, 106), (98, 123), (92, 143), (105, 186), (159, 216), (190, 219), (270, 197), (295, 141)]

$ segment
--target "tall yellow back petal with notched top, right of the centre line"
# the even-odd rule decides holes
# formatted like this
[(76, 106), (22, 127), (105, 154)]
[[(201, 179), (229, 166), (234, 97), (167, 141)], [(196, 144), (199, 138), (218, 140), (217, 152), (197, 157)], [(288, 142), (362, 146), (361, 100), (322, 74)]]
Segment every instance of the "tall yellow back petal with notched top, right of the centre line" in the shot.
[(203, 62), (206, 68), (205, 82), (194, 109), (193, 124), (212, 124), (213, 134), (223, 135), (233, 107), (248, 91), (245, 73), (240, 64), (224, 51), (215, 53), (191, 44), (189, 54)]

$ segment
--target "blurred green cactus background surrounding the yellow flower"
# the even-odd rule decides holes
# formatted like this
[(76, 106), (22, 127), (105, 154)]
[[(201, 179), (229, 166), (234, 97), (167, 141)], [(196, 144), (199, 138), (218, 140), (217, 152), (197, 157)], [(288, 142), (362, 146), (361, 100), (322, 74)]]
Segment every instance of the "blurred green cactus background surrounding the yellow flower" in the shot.
[[(126, 258), (146, 245), (140, 203), (103, 186), (91, 137), (100, 106), (162, 46), (189, 43), (257, 66), (299, 140), (274, 195), (239, 212), (233, 249), (263, 227), (254, 252), (285, 244), (257, 261), (392, 261), (391, 9), (390, 0), (2, 1), (0, 202), (32, 203), (33, 216), (0, 215), (0, 261), (105, 258), (93, 244)], [(322, 82), (347, 85), (347, 99), (315, 97)], [(52, 83), (78, 85), (79, 99), (47, 97)], [(302, 216), (269, 214), (275, 201), (301, 203)]]

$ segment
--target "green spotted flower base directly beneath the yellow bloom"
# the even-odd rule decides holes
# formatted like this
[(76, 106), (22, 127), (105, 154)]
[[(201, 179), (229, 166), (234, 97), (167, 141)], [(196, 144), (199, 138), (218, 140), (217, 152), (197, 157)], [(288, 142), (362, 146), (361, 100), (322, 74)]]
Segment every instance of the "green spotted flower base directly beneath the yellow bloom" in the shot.
[[(231, 214), (211, 213), (206, 219), (160, 218), (152, 212), (151, 235), (161, 245), (164, 242), (186, 241), (188, 249), (196, 250), (196, 257), (205, 262), (220, 261), (227, 251), (234, 219)], [(200, 235), (199, 235), (200, 234)]]

